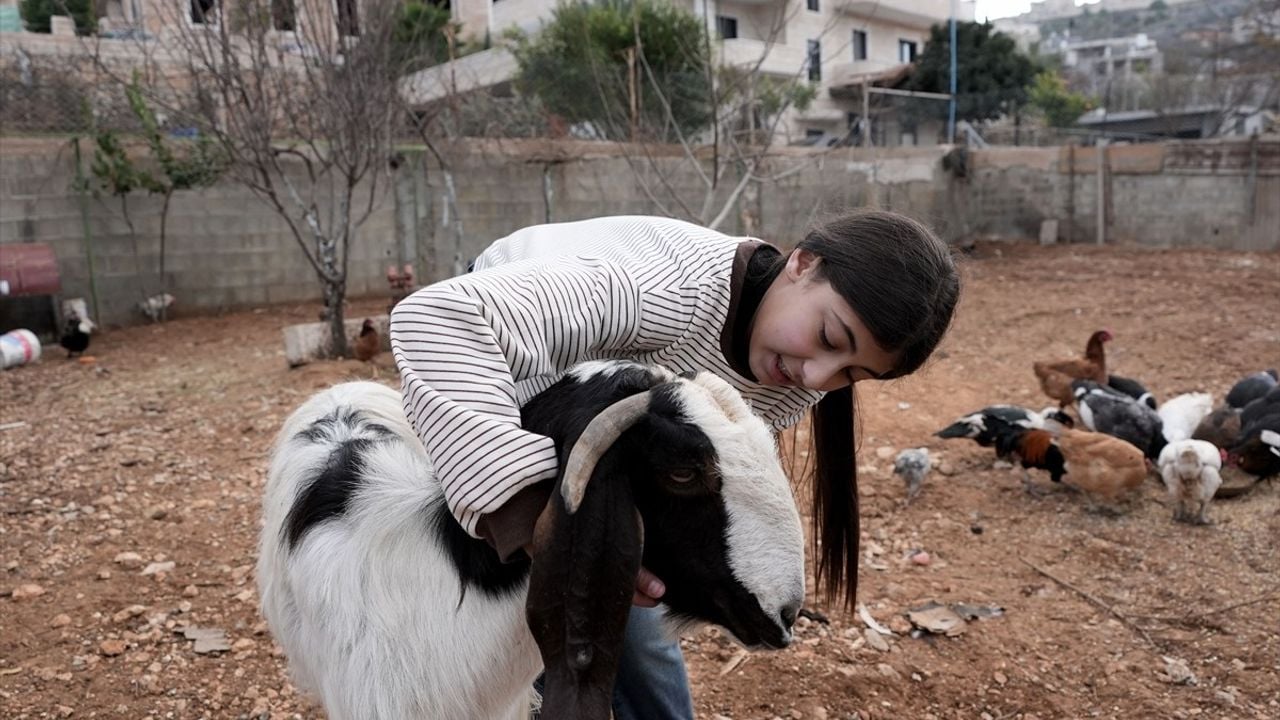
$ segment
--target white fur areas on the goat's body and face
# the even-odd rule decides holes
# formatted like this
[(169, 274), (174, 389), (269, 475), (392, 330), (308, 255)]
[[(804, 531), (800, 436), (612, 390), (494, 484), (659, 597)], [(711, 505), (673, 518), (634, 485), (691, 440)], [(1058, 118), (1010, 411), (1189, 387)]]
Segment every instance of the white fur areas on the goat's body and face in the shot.
[[(723, 380), (701, 374), (685, 387), (684, 410), (719, 455), (730, 566), (777, 618), (804, 597), (804, 560), (799, 514), (773, 438)], [(307, 530), (291, 553), (283, 536), (288, 512), (334, 447), (298, 433), (339, 407), (358, 410), (394, 438), (364, 455), (365, 482), (347, 512)], [(460, 578), (424, 521), (424, 509), (443, 502), (431, 473), (401, 396), (376, 383), (316, 395), (276, 441), (257, 566), (262, 612), (294, 682), (332, 720), (527, 716), (530, 685), (541, 669), (525, 620), (527, 580), (504, 600), (472, 587), (460, 602)]]

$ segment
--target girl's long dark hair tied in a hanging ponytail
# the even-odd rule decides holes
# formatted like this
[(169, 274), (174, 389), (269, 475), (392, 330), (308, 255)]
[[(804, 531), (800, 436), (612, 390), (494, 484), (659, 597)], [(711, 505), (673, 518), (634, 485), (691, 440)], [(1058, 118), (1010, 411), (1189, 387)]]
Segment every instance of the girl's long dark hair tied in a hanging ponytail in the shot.
[[(876, 342), (899, 355), (882, 379), (918, 370), (937, 348), (960, 299), (960, 274), (950, 249), (933, 231), (904, 215), (858, 210), (812, 228), (797, 245), (822, 259), (827, 279), (849, 302)], [(813, 409), (815, 457), (813, 533), (818, 588), (828, 603), (858, 596), (860, 532), (852, 386), (828, 392)]]

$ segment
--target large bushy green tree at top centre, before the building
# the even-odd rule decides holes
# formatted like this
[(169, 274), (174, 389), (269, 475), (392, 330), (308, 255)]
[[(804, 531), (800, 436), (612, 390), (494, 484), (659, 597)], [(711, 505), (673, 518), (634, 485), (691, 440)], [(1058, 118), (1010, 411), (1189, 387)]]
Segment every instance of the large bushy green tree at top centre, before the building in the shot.
[(521, 92), (609, 140), (671, 141), (713, 117), (703, 23), (669, 3), (562, 4), (535, 37), (516, 36), (515, 55)]

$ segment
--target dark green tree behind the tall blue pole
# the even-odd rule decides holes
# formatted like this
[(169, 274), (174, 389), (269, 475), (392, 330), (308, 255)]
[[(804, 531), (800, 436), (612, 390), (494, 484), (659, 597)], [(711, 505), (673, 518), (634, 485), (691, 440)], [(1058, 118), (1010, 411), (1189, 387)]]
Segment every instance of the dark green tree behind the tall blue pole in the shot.
[[(989, 23), (956, 24), (956, 119), (987, 120), (1016, 113), (1027, 104), (1036, 63), (1011, 37)], [(947, 26), (929, 31), (924, 53), (915, 60), (908, 90), (950, 92), (951, 42)], [(946, 102), (929, 102), (923, 113), (947, 115)]]

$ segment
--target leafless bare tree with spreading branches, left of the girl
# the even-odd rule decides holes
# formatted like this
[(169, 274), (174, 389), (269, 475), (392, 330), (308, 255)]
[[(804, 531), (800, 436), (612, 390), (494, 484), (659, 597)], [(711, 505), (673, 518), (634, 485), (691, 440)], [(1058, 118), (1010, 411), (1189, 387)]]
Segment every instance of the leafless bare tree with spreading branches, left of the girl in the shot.
[(397, 36), (401, 4), (232, 3), (164, 5), (166, 32), (142, 44), (142, 88), (168, 126), (212, 138), (228, 177), (284, 220), (320, 282), (329, 350), (344, 356), (351, 246), (390, 186), (398, 81), (416, 61)]

